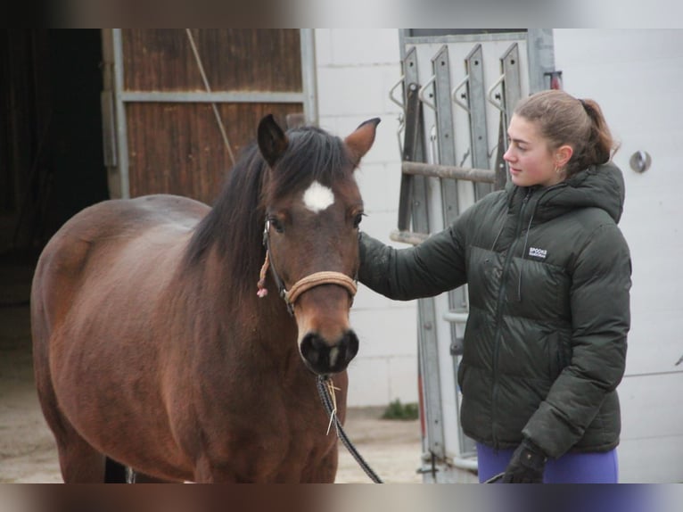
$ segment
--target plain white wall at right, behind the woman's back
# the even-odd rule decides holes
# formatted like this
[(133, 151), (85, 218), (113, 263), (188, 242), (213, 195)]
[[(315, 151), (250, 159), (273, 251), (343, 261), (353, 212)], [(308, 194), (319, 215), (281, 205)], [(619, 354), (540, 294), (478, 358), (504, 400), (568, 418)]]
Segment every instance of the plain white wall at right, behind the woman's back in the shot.
[[(633, 262), (631, 330), (621, 398), (621, 481), (683, 481), (683, 219), (679, 163), (683, 30), (556, 29), (564, 89), (600, 103), (621, 148), (626, 202), (620, 227)], [(652, 166), (630, 169), (646, 151)]]

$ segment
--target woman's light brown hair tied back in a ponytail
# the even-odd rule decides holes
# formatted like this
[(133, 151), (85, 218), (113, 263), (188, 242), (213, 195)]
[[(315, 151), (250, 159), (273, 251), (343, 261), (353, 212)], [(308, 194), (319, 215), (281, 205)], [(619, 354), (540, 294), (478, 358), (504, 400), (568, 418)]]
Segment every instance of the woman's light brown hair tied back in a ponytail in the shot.
[(551, 151), (571, 145), (567, 177), (609, 161), (618, 146), (614, 143), (600, 106), (593, 100), (579, 100), (560, 90), (541, 91), (523, 98), (514, 114), (534, 121)]

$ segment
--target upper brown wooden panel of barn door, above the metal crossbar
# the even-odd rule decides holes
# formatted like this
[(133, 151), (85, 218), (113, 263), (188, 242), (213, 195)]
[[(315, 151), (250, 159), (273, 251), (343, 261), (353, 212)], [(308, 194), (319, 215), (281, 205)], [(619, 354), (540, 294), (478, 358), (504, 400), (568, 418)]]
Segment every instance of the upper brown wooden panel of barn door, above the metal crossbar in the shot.
[[(301, 92), (299, 29), (194, 29), (214, 91)], [(203, 91), (185, 29), (126, 29), (124, 85), (136, 91)]]

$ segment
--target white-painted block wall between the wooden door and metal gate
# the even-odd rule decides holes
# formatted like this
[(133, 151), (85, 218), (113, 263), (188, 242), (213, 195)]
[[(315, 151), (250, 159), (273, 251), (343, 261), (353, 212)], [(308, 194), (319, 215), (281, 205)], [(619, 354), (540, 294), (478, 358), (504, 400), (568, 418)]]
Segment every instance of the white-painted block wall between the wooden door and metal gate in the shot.
[[(364, 120), (382, 119), (357, 171), (366, 233), (389, 240), (399, 208), (400, 109), (389, 91), (401, 75), (398, 29), (316, 29), (317, 111), (321, 128), (346, 136)], [(417, 401), (416, 303), (389, 301), (359, 286), (351, 324), (360, 338), (349, 368), (350, 406)]]

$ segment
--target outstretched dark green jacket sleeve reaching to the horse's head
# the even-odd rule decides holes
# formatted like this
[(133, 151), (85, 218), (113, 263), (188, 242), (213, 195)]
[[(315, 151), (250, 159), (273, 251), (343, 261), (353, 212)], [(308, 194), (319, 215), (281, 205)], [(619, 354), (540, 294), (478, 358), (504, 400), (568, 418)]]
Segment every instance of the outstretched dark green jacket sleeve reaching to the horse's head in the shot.
[(423, 243), (396, 249), (360, 235), (358, 280), (390, 299), (431, 297), (465, 283), (461, 217)]

